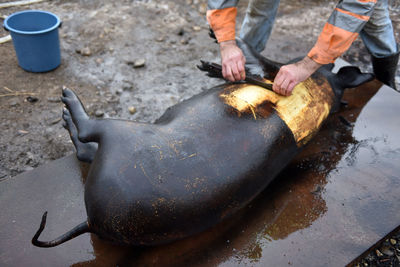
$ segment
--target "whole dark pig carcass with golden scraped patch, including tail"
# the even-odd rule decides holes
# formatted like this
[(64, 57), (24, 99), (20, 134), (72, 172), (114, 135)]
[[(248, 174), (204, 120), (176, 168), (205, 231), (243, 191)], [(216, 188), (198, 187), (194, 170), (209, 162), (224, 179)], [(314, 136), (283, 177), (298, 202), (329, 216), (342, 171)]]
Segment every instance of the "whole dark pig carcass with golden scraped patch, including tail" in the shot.
[[(274, 77), (279, 64), (240, 45), (249, 74), (261, 70), (261, 80)], [(209, 65), (202, 66), (209, 76), (220, 76)], [(78, 158), (91, 163), (87, 221), (55, 240), (39, 241), (45, 214), (32, 243), (52, 247), (91, 232), (119, 244), (158, 245), (204, 231), (268, 186), (318, 131), (327, 116), (318, 112), (337, 107), (344, 88), (371, 79), (354, 67), (338, 74), (321, 69), (297, 90), (306, 94), (289, 102), (310, 103), (298, 114), (288, 113), (287, 100), (266, 89), (223, 84), (167, 109), (154, 124), (90, 118), (65, 88), (65, 127)], [(307, 129), (316, 118), (315, 129)]]

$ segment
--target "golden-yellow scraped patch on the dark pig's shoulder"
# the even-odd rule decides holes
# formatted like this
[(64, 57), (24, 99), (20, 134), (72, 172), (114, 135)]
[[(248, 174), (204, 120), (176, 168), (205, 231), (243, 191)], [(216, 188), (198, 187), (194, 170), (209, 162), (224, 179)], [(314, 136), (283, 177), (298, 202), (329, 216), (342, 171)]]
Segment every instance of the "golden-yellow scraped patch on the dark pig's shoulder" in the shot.
[(298, 84), (288, 97), (248, 84), (233, 84), (220, 97), (239, 115), (252, 114), (254, 119), (266, 117), (267, 106), (275, 109), (293, 132), (298, 146), (302, 146), (318, 131), (329, 115), (334, 94), (327, 81), (317, 84), (314, 80), (307, 79)]

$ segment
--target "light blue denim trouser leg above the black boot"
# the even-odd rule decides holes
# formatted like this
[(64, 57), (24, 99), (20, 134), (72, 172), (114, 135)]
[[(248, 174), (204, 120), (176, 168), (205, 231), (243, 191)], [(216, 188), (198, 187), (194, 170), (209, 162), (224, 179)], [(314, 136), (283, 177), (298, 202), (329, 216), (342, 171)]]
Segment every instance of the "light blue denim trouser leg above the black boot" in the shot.
[(388, 0), (377, 1), (360, 36), (369, 53), (374, 57), (387, 57), (398, 52), (392, 21), (389, 17)]

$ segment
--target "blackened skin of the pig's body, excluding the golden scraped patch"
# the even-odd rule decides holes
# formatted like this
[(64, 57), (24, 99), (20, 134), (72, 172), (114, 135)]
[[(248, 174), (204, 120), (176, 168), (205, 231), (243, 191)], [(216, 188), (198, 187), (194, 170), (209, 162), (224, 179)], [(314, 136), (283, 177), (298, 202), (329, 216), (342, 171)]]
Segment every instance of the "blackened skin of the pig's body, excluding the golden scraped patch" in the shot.
[[(275, 113), (239, 118), (226, 111), (220, 89), (175, 106), (155, 125), (82, 122), (93, 130), (81, 139), (99, 144), (85, 184), (93, 232), (153, 245), (203, 231), (253, 199), (296, 154)], [(64, 95), (67, 106), (76, 101), (72, 91)]]

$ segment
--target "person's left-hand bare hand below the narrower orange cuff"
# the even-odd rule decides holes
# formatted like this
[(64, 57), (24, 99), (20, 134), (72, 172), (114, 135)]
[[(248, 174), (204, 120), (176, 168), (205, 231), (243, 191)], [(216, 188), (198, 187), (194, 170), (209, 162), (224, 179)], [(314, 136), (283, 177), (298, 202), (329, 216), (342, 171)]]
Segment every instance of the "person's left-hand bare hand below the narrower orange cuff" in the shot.
[(242, 50), (236, 45), (235, 40), (219, 43), (221, 50), (222, 76), (231, 82), (241, 81), (246, 78), (244, 64), (246, 58)]

